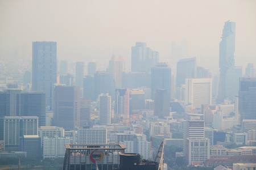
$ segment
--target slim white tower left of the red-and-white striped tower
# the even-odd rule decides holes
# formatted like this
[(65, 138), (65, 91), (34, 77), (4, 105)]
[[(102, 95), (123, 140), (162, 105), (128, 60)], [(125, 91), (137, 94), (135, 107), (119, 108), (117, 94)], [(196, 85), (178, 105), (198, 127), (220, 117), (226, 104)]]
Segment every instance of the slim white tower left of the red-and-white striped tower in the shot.
[(101, 94), (98, 98), (100, 101), (100, 125), (108, 125), (111, 122), (111, 96)]

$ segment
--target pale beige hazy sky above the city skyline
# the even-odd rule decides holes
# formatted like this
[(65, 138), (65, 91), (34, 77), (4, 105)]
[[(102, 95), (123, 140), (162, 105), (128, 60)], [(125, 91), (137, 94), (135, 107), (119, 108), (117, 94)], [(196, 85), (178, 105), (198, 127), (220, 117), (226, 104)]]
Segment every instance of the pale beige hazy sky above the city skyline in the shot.
[[(0, 57), (19, 46), (32, 58), (32, 41), (56, 41), (57, 58), (109, 61), (147, 42), (171, 59), (171, 42), (188, 40), (188, 57), (218, 70), (224, 22), (236, 22), (236, 65), (256, 65), (256, 1), (0, 1)], [(22, 46), (22, 47), (20, 47)], [(215, 68), (215, 69), (213, 69)]]

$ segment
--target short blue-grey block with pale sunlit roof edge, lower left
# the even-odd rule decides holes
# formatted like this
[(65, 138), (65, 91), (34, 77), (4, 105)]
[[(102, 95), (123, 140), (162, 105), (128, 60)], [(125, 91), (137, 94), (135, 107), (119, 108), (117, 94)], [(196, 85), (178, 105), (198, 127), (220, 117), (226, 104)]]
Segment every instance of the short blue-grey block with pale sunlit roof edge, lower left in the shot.
[(41, 139), (38, 135), (19, 138), (19, 151), (27, 152), (27, 158), (41, 158)]

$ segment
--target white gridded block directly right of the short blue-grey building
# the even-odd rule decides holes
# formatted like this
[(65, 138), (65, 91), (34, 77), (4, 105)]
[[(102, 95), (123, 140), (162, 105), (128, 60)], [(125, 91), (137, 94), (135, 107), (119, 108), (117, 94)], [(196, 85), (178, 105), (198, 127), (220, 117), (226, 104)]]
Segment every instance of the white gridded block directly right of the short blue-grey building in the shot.
[(43, 159), (56, 159), (65, 157), (65, 144), (70, 143), (69, 137), (43, 137)]

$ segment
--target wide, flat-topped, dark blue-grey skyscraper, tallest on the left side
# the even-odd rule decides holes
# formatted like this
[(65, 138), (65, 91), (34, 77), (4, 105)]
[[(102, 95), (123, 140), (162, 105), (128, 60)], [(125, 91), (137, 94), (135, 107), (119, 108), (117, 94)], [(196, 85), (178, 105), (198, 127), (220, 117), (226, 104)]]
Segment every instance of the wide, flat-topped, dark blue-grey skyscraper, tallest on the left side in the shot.
[(56, 42), (32, 44), (32, 91), (46, 92), (46, 105), (51, 105), (51, 87), (57, 82)]

